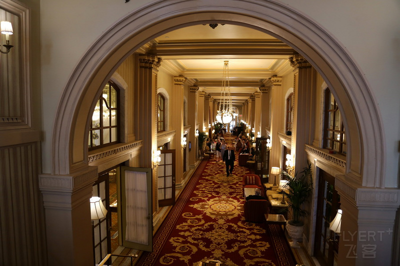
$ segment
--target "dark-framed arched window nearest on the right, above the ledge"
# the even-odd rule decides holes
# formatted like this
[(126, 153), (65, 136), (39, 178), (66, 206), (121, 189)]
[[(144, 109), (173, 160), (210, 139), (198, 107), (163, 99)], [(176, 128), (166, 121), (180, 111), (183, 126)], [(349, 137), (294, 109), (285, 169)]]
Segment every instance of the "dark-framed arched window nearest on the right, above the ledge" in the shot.
[(325, 90), (323, 148), (346, 154), (346, 135), (339, 108), (329, 88)]

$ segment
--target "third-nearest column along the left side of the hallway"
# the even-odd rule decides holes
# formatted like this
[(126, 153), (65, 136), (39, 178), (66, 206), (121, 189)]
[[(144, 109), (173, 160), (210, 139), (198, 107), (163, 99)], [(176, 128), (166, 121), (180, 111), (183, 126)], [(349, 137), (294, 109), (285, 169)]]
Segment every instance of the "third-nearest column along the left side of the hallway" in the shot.
[[(192, 131), (189, 136), (189, 141), (194, 143), (192, 146), (191, 151), (189, 151), (189, 167), (194, 168), (196, 158), (198, 156), (198, 143), (197, 138), (194, 137), (194, 133), (198, 129), (196, 127), (197, 121), (197, 86), (190, 86), (189, 87), (189, 97), (187, 99), (187, 122), (191, 125)], [(200, 131), (200, 130), (199, 130)]]

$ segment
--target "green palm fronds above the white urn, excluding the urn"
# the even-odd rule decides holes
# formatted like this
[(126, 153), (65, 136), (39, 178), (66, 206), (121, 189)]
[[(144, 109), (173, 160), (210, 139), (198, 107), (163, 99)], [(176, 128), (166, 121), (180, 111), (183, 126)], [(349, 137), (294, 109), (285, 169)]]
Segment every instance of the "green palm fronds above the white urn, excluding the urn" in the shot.
[(300, 218), (308, 215), (308, 212), (303, 209), (303, 204), (309, 200), (312, 194), (311, 164), (303, 168), (299, 177), (297, 173), (294, 177), (290, 177), (285, 171), (282, 171), (281, 176), (283, 180), (287, 180), (284, 189), (279, 194), (284, 194), (288, 200), (287, 204), (292, 215), (292, 221), (289, 223), (293, 226), (301, 226)]

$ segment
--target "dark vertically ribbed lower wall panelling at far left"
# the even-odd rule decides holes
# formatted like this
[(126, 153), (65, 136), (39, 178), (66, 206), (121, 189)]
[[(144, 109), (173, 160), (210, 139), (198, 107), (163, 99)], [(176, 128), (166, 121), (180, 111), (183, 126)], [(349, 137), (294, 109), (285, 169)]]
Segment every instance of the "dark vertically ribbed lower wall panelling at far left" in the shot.
[(46, 265), (39, 143), (0, 149), (0, 264)]

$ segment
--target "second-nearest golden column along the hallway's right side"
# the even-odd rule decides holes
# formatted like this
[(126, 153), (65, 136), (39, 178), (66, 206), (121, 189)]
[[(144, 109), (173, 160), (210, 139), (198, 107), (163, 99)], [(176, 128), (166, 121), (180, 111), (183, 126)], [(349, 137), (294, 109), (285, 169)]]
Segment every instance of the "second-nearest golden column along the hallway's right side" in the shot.
[[(280, 167), (281, 145), (278, 138), (278, 132), (281, 130), (284, 119), (284, 94), (281, 89), (282, 77), (272, 76), (268, 79), (267, 86), (271, 88), (271, 124), (270, 124), (270, 167)], [(270, 182), (271, 180), (269, 180)]]

